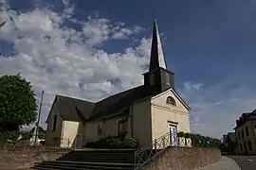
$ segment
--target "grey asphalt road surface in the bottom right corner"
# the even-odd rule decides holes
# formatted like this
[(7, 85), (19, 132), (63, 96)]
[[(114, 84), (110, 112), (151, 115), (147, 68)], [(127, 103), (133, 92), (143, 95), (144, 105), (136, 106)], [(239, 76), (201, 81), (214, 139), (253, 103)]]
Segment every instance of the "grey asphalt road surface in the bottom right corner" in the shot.
[[(230, 159), (233, 159), (238, 166), (241, 168), (241, 170), (256, 170), (256, 156), (228, 156)], [(247, 160), (252, 160), (247, 161)]]

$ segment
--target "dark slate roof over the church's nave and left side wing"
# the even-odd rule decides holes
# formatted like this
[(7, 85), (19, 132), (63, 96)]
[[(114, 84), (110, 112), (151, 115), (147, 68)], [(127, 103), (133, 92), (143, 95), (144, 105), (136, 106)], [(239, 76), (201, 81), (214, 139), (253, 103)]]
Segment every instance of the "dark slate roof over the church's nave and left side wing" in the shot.
[(81, 121), (101, 118), (109, 114), (128, 114), (129, 107), (134, 101), (150, 95), (142, 85), (111, 95), (96, 103), (64, 95), (56, 95), (54, 102), (65, 120)]

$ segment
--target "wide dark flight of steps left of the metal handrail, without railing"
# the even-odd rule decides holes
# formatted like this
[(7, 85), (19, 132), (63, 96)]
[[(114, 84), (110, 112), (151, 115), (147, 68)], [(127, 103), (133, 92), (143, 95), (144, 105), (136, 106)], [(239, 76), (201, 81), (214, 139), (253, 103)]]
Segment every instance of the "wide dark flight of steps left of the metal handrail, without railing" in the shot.
[(39, 170), (132, 170), (135, 150), (74, 150), (56, 161), (35, 163)]

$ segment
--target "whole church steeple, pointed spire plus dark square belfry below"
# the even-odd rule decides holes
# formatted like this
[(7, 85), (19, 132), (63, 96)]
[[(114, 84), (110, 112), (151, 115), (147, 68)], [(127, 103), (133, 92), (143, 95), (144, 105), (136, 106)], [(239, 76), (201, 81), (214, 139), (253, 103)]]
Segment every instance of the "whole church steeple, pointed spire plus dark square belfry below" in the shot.
[(162, 93), (174, 88), (174, 73), (166, 68), (156, 20), (153, 26), (149, 72), (144, 74), (144, 86), (150, 93)]

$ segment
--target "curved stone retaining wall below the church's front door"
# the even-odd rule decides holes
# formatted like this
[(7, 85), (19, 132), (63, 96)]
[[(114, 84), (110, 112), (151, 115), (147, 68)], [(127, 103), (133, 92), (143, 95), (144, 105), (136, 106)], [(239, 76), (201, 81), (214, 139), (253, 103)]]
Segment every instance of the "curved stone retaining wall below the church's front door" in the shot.
[(168, 147), (143, 170), (192, 170), (220, 159), (221, 152), (215, 148)]

